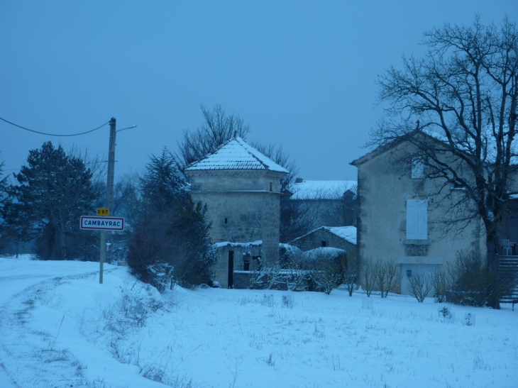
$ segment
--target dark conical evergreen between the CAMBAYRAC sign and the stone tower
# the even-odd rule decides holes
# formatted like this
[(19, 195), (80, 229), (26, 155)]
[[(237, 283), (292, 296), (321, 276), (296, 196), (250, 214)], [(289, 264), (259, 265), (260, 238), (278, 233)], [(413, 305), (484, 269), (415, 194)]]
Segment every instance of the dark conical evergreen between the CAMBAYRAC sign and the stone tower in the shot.
[(129, 243), (133, 274), (158, 289), (211, 282), (216, 251), (206, 206), (194, 204), (175, 158), (163, 150), (150, 157), (140, 179), (140, 213)]

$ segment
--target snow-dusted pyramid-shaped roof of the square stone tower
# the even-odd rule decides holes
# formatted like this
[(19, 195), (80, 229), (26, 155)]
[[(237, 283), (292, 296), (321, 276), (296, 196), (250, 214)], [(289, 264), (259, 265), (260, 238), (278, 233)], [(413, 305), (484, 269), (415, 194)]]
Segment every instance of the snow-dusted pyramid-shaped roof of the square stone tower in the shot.
[(228, 140), (214, 153), (192, 163), (186, 170), (270, 170), (290, 173), (240, 137)]

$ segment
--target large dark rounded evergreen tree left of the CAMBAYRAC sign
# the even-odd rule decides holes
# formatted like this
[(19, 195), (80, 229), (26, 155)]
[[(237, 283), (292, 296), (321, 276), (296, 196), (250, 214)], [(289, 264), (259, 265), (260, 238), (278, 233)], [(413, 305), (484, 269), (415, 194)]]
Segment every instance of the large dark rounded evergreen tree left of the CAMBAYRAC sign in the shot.
[(44, 143), (29, 151), (27, 165), (14, 174), (6, 211), (13, 235), (36, 238), (36, 253), (44, 260), (90, 258), (92, 234), (79, 231), (79, 217), (92, 212), (92, 172), (61, 146)]

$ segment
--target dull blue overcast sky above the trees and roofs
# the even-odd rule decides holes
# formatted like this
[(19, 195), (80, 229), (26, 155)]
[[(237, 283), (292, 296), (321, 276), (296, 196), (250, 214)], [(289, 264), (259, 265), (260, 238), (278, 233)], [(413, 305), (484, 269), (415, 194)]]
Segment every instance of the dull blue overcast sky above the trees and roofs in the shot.
[[(283, 145), (306, 179), (356, 179), (349, 162), (382, 117), (375, 79), (421, 55), (422, 33), (485, 24), (509, 1), (0, 0), (0, 118), (45, 133), (117, 119), (116, 177), (173, 152), (220, 104), (248, 140)], [(53, 140), (106, 159), (109, 127), (52, 138), (0, 121), (0, 160), (16, 172)]]

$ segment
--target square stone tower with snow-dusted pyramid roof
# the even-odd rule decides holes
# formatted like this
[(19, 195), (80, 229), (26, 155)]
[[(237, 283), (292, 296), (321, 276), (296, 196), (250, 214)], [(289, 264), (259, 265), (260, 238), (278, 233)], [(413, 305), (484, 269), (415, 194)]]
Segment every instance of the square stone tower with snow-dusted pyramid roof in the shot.
[(233, 287), (233, 273), (277, 261), (280, 234), (280, 182), (289, 173), (242, 138), (186, 168), (193, 201), (207, 204), (211, 240), (219, 260), (214, 280)]

